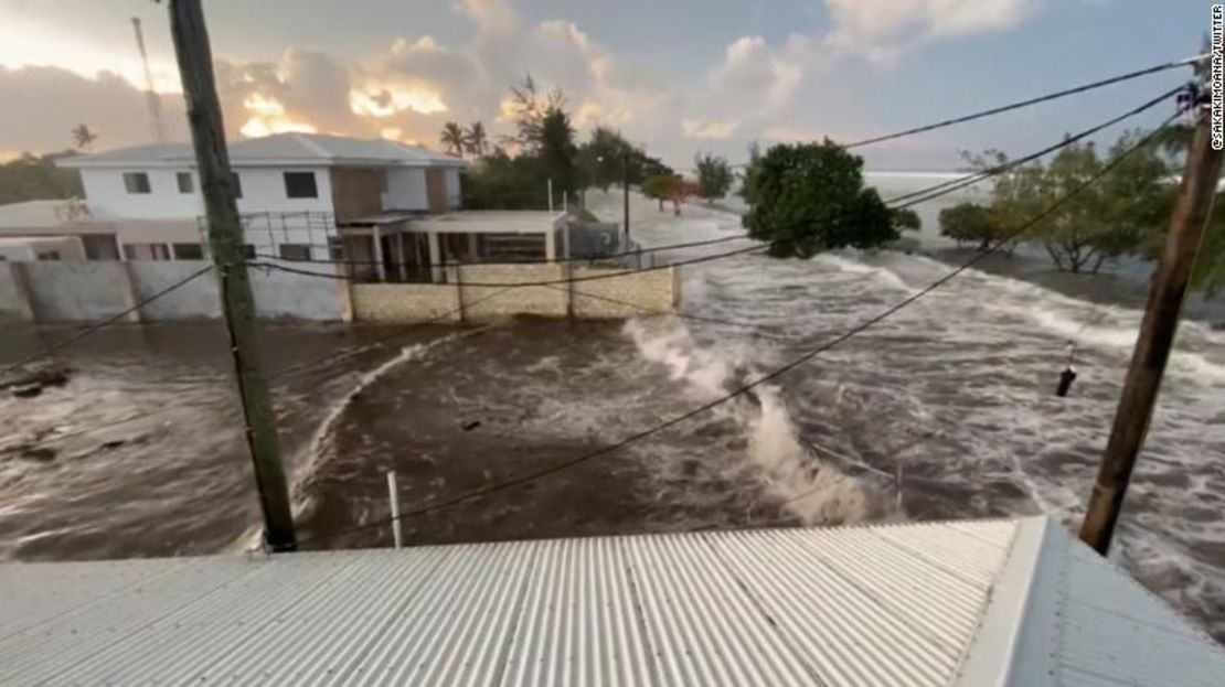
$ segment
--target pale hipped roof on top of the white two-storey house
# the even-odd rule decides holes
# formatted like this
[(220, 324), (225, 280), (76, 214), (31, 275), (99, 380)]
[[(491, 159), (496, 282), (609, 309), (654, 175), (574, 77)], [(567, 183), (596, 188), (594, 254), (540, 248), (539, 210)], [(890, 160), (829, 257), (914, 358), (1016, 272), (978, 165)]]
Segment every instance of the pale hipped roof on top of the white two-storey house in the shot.
[[(325, 133), (274, 133), (229, 143), (234, 167), (284, 165), (379, 165), (379, 167), (466, 167), (462, 159), (383, 138), (365, 140)], [(153, 143), (116, 148), (58, 160), (69, 168), (195, 167), (189, 143)]]

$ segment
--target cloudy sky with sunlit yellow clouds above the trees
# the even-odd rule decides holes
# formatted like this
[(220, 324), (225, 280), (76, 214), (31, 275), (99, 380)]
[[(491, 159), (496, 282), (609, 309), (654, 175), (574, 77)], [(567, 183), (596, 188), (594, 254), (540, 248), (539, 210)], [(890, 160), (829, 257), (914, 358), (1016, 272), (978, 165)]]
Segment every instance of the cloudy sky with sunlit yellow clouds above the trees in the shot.
[[(448, 120), (507, 132), (530, 72), (576, 126), (621, 129), (675, 167), (697, 151), (854, 140), (1188, 56), (1207, 0), (206, 0), (232, 136), (285, 130), (429, 146)], [(148, 142), (140, 17), (169, 135), (186, 140), (163, 6), (0, 0), (0, 157)], [(870, 168), (948, 169), (962, 149), (1022, 154), (1186, 78), (864, 149)], [(1154, 111), (1137, 125), (1166, 116)]]

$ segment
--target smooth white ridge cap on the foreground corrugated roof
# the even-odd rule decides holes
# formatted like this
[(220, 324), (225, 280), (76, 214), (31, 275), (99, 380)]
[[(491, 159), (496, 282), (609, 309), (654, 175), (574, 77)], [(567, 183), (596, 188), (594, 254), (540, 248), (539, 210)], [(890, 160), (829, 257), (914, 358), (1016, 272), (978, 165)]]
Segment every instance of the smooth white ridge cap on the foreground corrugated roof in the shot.
[(974, 639), (962, 655), (956, 687), (1006, 686), (1012, 682), (1019, 643), (1034, 605), (1038, 566), (1050, 539), (1047, 516), (1018, 520), (1008, 558), (987, 593)]

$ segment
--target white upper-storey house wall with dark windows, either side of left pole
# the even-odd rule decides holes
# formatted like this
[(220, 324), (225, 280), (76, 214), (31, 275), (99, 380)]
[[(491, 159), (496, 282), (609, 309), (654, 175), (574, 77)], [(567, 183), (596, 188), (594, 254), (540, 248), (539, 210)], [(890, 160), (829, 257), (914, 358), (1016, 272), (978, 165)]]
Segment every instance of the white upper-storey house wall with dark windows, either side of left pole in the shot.
[[(149, 176), (148, 193), (129, 193), (124, 173), (143, 171)], [(175, 174), (186, 169), (127, 168), (82, 169), (81, 182), (96, 219), (195, 219), (205, 214), (200, 176), (191, 173), (192, 192), (180, 193)], [(332, 212), (332, 180), (327, 168), (238, 168), (243, 197), (238, 209), (254, 212)], [(285, 196), (285, 171), (314, 171), (318, 197)]]

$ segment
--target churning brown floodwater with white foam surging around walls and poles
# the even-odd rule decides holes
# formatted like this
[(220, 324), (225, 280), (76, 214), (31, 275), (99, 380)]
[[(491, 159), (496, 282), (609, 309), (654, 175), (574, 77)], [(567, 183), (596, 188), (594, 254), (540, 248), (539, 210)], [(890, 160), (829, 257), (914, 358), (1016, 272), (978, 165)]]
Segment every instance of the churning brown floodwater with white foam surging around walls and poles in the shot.
[[(647, 245), (739, 230), (736, 217), (702, 208), (680, 219), (648, 203), (635, 212)], [(989, 267), (753, 394), (539, 480), (407, 518), (405, 538), (1034, 513), (1076, 527), (1143, 279), (1069, 278), (1025, 255)], [(300, 535), (310, 547), (390, 545), (390, 469), (412, 512), (614, 446), (947, 268), (900, 252), (745, 255), (686, 268), (684, 312), (695, 318), (263, 327), (270, 371), (300, 366), (272, 381)], [(1225, 638), (1225, 332), (1199, 310), (1192, 316), (1115, 556)], [(0, 332), (0, 361), (71, 331)], [(1069, 340), (1080, 377), (1057, 398)], [(258, 506), (217, 325), (115, 327), (54, 362), (74, 370), (66, 386), (0, 397), (0, 557), (254, 544)]]

